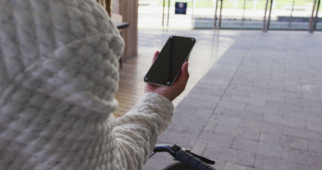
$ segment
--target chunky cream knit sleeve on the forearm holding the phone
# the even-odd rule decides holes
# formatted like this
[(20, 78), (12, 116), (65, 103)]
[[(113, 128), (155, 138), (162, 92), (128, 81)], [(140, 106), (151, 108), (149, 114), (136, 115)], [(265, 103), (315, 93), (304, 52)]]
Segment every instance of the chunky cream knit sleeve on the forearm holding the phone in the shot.
[(145, 93), (138, 104), (116, 121), (116, 139), (125, 169), (141, 169), (156, 145), (157, 136), (169, 126), (174, 106), (166, 97)]

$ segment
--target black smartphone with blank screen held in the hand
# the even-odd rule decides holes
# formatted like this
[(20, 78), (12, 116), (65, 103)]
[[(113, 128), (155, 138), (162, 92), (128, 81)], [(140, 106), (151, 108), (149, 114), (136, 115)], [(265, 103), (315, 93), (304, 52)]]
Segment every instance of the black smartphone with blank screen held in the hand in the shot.
[(195, 38), (170, 36), (144, 77), (144, 82), (171, 87), (195, 43)]

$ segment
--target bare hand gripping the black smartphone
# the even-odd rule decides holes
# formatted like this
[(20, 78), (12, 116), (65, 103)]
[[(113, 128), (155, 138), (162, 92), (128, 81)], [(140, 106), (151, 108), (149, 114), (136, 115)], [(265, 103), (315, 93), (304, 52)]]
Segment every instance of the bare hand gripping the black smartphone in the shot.
[[(152, 63), (156, 59), (158, 54), (159, 54), (158, 51), (156, 51), (154, 53)], [(173, 101), (176, 97), (178, 97), (185, 90), (185, 86), (187, 85), (187, 82), (189, 79), (188, 64), (189, 64), (188, 62), (185, 62), (182, 65), (181, 70), (178, 74), (178, 77), (175, 80), (175, 82), (173, 83), (173, 86), (163, 87), (163, 86), (156, 86), (156, 85), (153, 85), (150, 83), (146, 83), (145, 88), (144, 88), (144, 92), (145, 93), (148, 93), (148, 92), (158, 93), (158, 94), (168, 98), (169, 100)]]

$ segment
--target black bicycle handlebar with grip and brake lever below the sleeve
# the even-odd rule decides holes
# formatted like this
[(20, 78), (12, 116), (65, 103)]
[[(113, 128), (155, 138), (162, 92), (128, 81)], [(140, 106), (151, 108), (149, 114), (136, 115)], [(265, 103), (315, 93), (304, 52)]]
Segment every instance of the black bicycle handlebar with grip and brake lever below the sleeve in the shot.
[(181, 147), (176, 144), (173, 146), (168, 144), (156, 145), (149, 158), (157, 152), (168, 152), (173, 157), (174, 161), (179, 161), (166, 166), (162, 170), (216, 170), (209, 165), (214, 165), (215, 161), (194, 154), (190, 152), (190, 150), (181, 149)]

